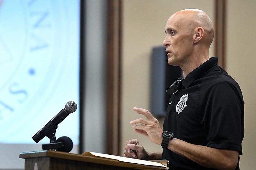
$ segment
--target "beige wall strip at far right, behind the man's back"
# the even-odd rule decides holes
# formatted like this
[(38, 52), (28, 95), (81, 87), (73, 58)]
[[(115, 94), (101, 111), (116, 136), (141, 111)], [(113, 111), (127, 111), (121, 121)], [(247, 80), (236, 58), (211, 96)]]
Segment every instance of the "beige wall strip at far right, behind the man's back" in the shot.
[(244, 95), (244, 128), (241, 169), (256, 169), (256, 1), (228, 1), (227, 71)]

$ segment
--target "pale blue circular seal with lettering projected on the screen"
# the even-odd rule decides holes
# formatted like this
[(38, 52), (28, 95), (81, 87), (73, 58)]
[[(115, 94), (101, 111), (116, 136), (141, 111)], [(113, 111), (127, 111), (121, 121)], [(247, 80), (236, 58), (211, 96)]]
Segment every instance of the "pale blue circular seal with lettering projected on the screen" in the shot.
[[(17, 127), (36, 119), (61, 78), (68, 49), (62, 42), (69, 34), (65, 12), (58, 6), (50, 0), (0, 1), (2, 143), (15, 141)], [(10, 122), (16, 127), (8, 126)]]

